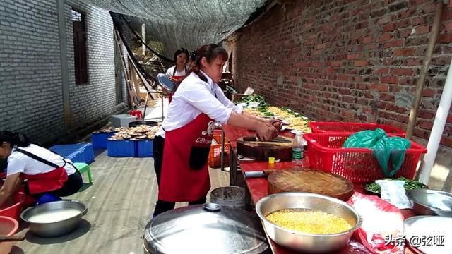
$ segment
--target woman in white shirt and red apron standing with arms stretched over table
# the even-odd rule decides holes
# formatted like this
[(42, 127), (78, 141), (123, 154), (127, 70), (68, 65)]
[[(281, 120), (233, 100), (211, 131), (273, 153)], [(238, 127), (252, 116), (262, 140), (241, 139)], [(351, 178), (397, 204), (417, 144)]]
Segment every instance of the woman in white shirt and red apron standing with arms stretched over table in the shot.
[(278, 135), (280, 123), (242, 112), (218, 87), (227, 59), (227, 52), (218, 45), (198, 49), (198, 69), (182, 81), (169, 104), (162, 123), (165, 140), (156, 137), (157, 143), (163, 141), (165, 145), (160, 147), (163, 159), (154, 216), (173, 209), (175, 202), (190, 205), (206, 202), (210, 189), (206, 162), (215, 122), (254, 130), (260, 140)]

